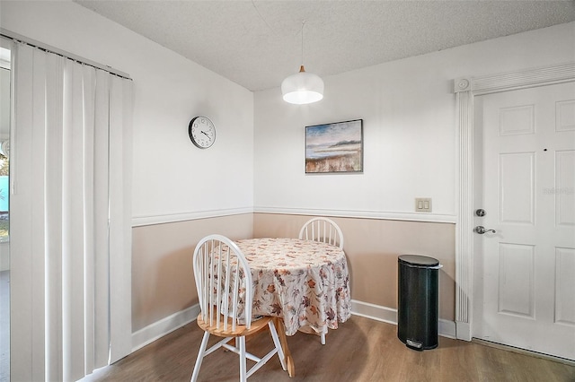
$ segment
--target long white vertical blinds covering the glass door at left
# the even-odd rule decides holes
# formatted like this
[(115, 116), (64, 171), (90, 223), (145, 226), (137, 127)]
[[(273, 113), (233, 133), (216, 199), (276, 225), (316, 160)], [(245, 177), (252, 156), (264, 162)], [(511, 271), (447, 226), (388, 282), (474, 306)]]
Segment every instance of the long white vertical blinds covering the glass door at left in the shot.
[(132, 82), (13, 44), (11, 378), (131, 352)]

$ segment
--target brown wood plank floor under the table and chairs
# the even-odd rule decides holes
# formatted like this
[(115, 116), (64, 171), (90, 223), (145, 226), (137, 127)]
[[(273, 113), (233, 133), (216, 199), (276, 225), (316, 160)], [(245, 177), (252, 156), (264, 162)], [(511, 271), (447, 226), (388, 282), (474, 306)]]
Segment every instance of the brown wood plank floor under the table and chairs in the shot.
[[(203, 332), (195, 322), (147, 345), (84, 381), (189, 381)], [(397, 339), (397, 326), (353, 316), (327, 343), (297, 333), (288, 337), (296, 364), (289, 378), (273, 358), (250, 381), (575, 381), (575, 366), (439, 337), (437, 349), (417, 352)], [(248, 342), (248, 351), (271, 348), (264, 331)], [(233, 352), (219, 350), (204, 360), (200, 381), (236, 381), (239, 363)]]

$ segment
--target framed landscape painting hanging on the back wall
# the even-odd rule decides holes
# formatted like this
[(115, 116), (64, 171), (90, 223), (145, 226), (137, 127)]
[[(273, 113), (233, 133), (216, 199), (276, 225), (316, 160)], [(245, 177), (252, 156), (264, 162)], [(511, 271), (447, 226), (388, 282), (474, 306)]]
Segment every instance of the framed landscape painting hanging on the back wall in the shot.
[(363, 119), (305, 126), (305, 173), (363, 172)]

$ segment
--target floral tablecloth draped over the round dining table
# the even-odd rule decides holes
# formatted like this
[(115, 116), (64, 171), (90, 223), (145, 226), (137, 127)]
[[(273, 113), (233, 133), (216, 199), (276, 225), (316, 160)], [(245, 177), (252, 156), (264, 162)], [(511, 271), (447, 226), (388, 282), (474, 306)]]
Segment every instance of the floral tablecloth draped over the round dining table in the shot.
[(337, 329), (351, 316), (348, 264), (339, 247), (283, 238), (236, 244), (252, 269), (252, 315), (283, 318), (288, 335)]

